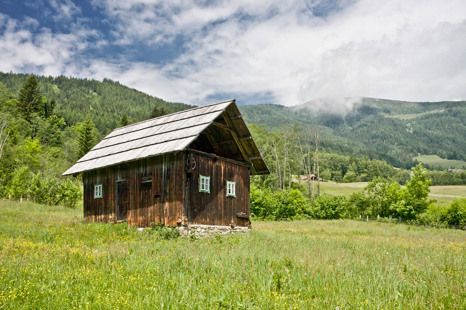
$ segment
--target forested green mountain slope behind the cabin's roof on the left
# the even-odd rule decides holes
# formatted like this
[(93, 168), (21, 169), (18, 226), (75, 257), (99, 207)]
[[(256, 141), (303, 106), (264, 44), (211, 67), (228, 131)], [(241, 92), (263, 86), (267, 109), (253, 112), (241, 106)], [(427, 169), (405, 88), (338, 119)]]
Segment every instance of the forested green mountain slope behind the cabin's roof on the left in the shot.
[[(0, 82), (13, 93), (18, 93), (29, 74), (2, 73)], [(93, 120), (103, 136), (115, 129), (123, 114), (128, 122), (150, 119), (154, 106), (164, 107), (168, 113), (190, 109), (194, 106), (167, 102), (111, 79), (96, 81), (66, 76), (37, 76), (39, 89), (48, 99), (55, 99), (55, 113), (60, 114), (67, 125), (82, 122), (86, 116)]]

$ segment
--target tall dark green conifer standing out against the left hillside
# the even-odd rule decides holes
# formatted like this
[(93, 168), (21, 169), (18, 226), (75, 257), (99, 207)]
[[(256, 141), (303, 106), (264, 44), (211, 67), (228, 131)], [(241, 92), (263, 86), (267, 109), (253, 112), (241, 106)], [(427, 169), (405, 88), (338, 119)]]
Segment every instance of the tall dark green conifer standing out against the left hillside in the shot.
[(27, 121), (30, 121), (32, 113), (42, 114), (44, 112), (41, 91), (33, 74), (29, 75), (23, 87), (21, 87), (16, 107), (21, 116)]

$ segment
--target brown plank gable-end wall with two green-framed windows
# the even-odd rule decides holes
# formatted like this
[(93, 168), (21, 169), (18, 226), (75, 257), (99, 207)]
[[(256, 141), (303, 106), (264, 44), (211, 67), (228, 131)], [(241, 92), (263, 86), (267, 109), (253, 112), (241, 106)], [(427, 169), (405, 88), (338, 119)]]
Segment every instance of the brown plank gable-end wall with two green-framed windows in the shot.
[[(247, 167), (199, 154), (193, 157), (196, 168), (190, 180), (190, 224), (245, 226), (245, 220), (236, 214), (250, 214)], [(210, 193), (199, 192), (199, 174), (210, 177)], [(236, 182), (236, 197), (226, 196), (226, 180)]]

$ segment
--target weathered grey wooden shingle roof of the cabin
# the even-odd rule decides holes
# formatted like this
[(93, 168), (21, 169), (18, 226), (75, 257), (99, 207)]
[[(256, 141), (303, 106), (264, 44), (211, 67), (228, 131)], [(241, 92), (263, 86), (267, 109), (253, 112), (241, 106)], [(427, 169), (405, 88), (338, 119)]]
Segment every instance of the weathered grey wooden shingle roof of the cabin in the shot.
[[(183, 151), (213, 123), (226, 127), (223, 129), (230, 131), (233, 137), (236, 137), (236, 141), (239, 140), (237, 135), (250, 136), (240, 115), (231, 122), (226, 119), (231, 128), (227, 124), (215, 122), (228, 107), (237, 111), (235, 114), (239, 114), (235, 99), (232, 99), (117, 128), (62, 175), (77, 174), (141, 158)], [(252, 174), (269, 173), (254, 140), (252, 137), (248, 140), (240, 141), (238, 147), (245, 158), (244, 161), (251, 165)]]

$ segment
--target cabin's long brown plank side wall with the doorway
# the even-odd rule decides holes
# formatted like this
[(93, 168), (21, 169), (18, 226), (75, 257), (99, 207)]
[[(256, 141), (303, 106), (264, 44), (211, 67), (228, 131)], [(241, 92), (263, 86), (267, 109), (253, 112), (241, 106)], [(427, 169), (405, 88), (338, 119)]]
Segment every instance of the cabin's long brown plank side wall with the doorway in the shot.
[[(141, 191), (142, 178), (152, 188)], [(84, 221), (113, 222), (116, 182), (128, 183), (128, 223), (147, 227), (151, 222), (176, 225), (183, 215), (185, 171), (183, 154), (166, 154), (83, 173)], [(94, 185), (103, 183), (103, 198), (94, 199)], [(162, 195), (162, 197), (155, 198)]]

